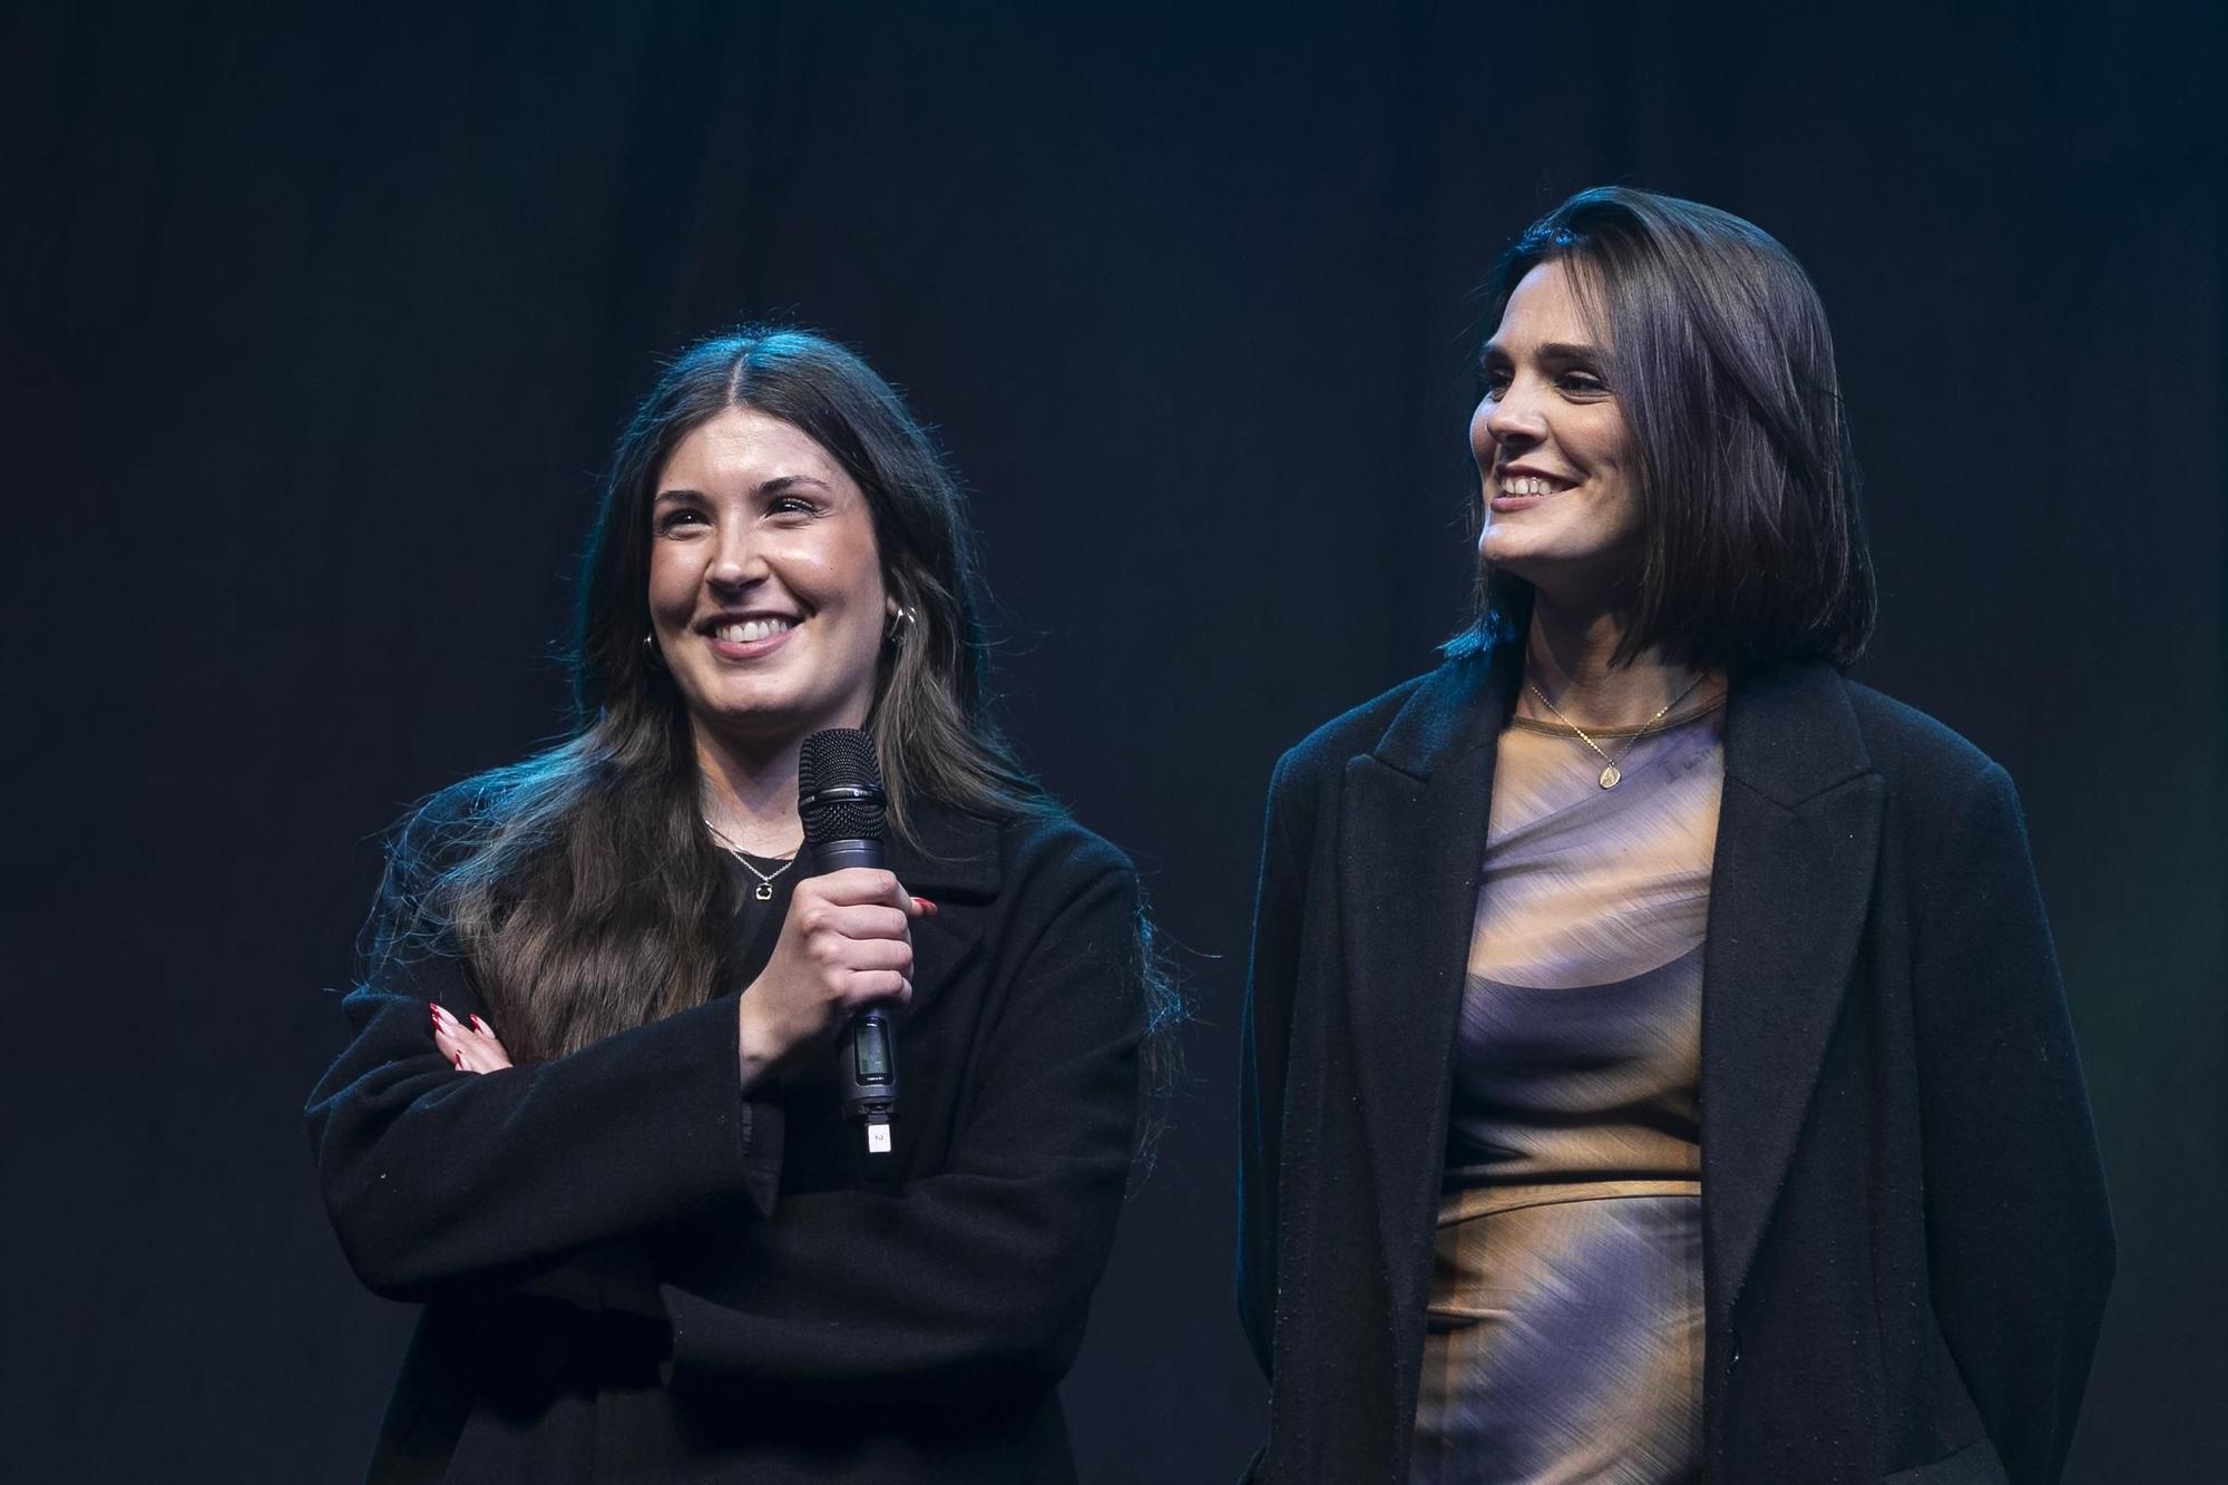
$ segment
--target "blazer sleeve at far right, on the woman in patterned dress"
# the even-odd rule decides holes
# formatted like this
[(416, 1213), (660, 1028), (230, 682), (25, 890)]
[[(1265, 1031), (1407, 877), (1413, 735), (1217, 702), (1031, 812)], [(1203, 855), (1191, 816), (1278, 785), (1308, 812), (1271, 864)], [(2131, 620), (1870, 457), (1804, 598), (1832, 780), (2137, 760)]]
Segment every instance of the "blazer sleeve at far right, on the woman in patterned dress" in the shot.
[(1916, 1030), (1934, 1311), (2012, 1481), (2056, 1481), (2112, 1222), (2010, 776), (1965, 787), (1921, 899)]

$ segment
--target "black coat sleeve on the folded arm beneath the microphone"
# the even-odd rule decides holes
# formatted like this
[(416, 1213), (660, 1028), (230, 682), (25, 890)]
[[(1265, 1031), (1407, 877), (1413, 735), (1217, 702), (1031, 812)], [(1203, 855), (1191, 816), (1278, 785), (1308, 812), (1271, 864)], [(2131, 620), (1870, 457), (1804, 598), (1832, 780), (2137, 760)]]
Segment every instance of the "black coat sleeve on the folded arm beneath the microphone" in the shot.
[(784, 1195), (715, 1273), (662, 1284), (675, 1385), (967, 1387), (1067, 1369), (1136, 1135), (1136, 912), (1121, 865), (1043, 919), (976, 1032), (940, 1171)]

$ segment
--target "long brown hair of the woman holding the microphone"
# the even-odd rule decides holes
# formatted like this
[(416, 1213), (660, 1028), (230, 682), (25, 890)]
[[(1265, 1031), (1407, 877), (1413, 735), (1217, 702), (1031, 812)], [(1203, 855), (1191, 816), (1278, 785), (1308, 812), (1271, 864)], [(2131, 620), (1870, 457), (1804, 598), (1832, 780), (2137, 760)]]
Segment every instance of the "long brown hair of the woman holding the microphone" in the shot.
[(619, 435), (582, 555), (577, 731), (419, 809), (390, 845), (374, 954), (441, 934), (519, 1061), (579, 1050), (729, 988), (733, 885), (702, 823), (688, 711), (651, 656), (651, 504), (684, 437), (726, 408), (804, 430), (858, 482), (882, 582), (869, 731), (891, 827), (922, 800), (1016, 818), (1058, 807), (985, 702), (983, 589), (965, 502), (898, 392), (842, 346), (751, 326), (684, 350)]

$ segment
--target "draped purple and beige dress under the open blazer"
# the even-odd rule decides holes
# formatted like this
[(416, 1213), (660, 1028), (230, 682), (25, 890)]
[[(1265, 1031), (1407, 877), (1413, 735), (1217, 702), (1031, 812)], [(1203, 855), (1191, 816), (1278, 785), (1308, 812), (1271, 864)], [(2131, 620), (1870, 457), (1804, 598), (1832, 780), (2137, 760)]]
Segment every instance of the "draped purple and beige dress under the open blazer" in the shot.
[(1410, 1478), (1702, 1478), (1702, 936), (1722, 709), (1513, 718), (1455, 1052)]

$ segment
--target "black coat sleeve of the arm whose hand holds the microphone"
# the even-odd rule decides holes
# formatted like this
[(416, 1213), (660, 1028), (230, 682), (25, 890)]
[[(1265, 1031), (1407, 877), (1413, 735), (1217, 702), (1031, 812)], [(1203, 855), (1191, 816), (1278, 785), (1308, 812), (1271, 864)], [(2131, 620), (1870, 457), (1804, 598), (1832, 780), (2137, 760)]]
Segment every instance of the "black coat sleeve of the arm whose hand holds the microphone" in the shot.
[(771, 1204), (782, 1119), (742, 1097), (733, 997), (550, 1061), (459, 1072), (428, 1001), (457, 1017), (486, 1006), (408, 919), (390, 876), (368, 974), (343, 1001), (354, 1037), (307, 1108), (325, 1209), (372, 1291), (504, 1287), (642, 1311), (655, 1291), (637, 1235)]

